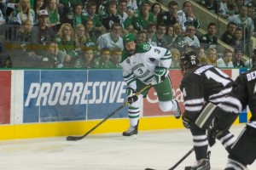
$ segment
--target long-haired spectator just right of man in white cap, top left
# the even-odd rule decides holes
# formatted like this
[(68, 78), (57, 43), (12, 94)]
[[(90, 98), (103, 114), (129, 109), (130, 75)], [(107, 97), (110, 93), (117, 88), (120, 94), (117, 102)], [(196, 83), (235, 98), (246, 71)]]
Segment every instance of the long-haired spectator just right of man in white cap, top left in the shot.
[(61, 25), (60, 14), (57, 8), (57, 0), (48, 0), (45, 8), (49, 14), (49, 27), (57, 31)]

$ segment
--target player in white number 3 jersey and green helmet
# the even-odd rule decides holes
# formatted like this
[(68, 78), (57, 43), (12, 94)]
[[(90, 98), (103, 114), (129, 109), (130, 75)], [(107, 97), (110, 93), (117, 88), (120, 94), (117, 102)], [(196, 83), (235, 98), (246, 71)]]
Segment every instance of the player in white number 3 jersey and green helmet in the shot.
[(131, 33), (125, 35), (123, 41), (125, 50), (120, 65), (127, 84), (126, 94), (130, 104), (128, 107), (130, 128), (123, 133), (123, 136), (137, 134), (140, 105), (143, 97), (148, 94), (148, 90), (138, 96), (136, 93), (149, 84), (157, 93), (161, 111), (173, 111), (178, 119), (181, 111), (177, 100), (173, 99), (172, 82), (168, 76), (168, 68), (172, 63), (171, 52), (149, 43), (137, 44), (135, 36)]

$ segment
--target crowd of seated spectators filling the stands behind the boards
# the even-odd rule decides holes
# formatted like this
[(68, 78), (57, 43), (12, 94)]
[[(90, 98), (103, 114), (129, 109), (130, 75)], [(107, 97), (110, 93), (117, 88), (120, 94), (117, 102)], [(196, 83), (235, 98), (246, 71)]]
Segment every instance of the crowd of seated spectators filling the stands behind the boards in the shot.
[[(179, 67), (179, 56), (187, 50), (194, 50), (201, 64), (250, 67), (256, 0), (194, 2), (226, 20), (226, 31), (216, 35), (218, 23), (208, 22), (207, 33), (199, 34), (201, 21), (190, 1), (179, 6), (165, 0), (3, 0), (0, 66), (120, 68), (122, 37), (130, 32), (137, 43), (170, 49), (172, 68)], [(230, 48), (218, 51), (218, 39)]]

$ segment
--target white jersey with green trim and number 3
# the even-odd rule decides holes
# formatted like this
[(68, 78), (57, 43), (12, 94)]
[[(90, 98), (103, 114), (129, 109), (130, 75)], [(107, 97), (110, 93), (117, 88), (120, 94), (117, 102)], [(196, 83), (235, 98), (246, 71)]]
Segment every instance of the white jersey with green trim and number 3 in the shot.
[(137, 44), (136, 53), (129, 56), (123, 51), (120, 65), (123, 68), (123, 77), (130, 88), (137, 89), (136, 80), (150, 84), (154, 82), (156, 66), (169, 68), (172, 63), (172, 54), (166, 48), (155, 47), (150, 43)]

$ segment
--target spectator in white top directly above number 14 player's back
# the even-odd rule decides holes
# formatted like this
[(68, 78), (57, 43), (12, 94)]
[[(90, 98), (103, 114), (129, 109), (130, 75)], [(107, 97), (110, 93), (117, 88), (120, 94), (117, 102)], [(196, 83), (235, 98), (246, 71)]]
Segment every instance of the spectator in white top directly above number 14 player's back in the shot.
[(233, 52), (230, 49), (226, 48), (224, 50), (223, 58), (217, 59), (217, 66), (223, 67), (223, 68), (224, 67), (234, 68), (232, 59), (233, 59)]

